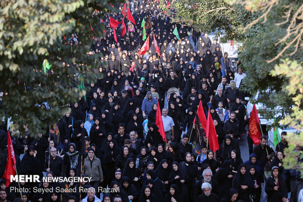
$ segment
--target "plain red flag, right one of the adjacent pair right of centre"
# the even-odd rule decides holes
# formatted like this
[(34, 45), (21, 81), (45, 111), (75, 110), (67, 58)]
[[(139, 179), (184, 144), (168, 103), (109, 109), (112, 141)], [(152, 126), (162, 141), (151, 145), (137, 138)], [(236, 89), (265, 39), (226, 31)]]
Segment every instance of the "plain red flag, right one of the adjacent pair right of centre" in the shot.
[(219, 149), (219, 142), (216, 136), (216, 128), (213, 122), (210, 108), (208, 109), (208, 115), (207, 115), (206, 137), (208, 138), (209, 147), (211, 148), (211, 150), (216, 152)]

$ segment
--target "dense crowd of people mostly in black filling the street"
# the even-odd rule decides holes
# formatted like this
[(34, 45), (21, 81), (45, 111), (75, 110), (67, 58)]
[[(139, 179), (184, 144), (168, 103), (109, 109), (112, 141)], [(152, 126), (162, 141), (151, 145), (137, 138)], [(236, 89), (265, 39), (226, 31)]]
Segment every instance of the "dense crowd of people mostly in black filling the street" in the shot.
[[(1, 202), (259, 202), (263, 195), (267, 202), (296, 202), (303, 181), (300, 171), (283, 168), (286, 134), (281, 134), (275, 151), (266, 136), (255, 147), (249, 137), (240, 61), (234, 72), (216, 39), (212, 42), (201, 30), (172, 23), (158, 0), (126, 6), (136, 24), (125, 18), (125, 35), (121, 23), (115, 28), (116, 42), (110, 28), (110, 18), (123, 18), (120, 10), (103, 17), (106, 36), (92, 38), (91, 54), (100, 54), (103, 66), (96, 70), (99, 79), (88, 84), (86, 96), (70, 104), (70, 111), (46, 134), (32, 137), (24, 125), (20, 137), (11, 135), (18, 174), (91, 177), (90, 182), (13, 182), (6, 187), (1, 180)], [(143, 19), (150, 50), (139, 55)], [(92, 28), (96, 26), (100, 24)], [(175, 27), (180, 39), (173, 34)], [(81, 45), (80, 36), (71, 34), (68, 45)], [(193, 124), (200, 102), (214, 121), (217, 151)], [(157, 107), (167, 142), (155, 123)], [(7, 135), (6, 129), (0, 131), (0, 176)], [(250, 156), (242, 159), (239, 142), (246, 135)], [(294, 150), (296, 159), (300, 150), (299, 145)], [(11, 186), (72, 191), (11, 192)], [(107, 187), (114, 191), (104, 192)]]

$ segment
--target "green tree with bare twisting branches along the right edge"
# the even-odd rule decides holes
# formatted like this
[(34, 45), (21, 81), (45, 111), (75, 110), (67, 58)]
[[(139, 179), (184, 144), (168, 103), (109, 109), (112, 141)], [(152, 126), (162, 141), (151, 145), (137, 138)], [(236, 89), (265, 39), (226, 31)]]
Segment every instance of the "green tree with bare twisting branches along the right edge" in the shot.
[(303, 145), (303, 4), (298, 0), (240, 3), (248, 10), (261, 11), (259, 18), (243, 29), (247, 39), (240, 59), (246, 70), (245, 88), (252, 93), (260, 90), (261, 102), (269, 109), (280, 105), (283, 119), (279, 124), (299, 131), (287, 135), (289, 148), (284, 150), (283, 166), (303, 173), (303, 163), (297, 160), (303, 153), (294, 152), (296, 146)]

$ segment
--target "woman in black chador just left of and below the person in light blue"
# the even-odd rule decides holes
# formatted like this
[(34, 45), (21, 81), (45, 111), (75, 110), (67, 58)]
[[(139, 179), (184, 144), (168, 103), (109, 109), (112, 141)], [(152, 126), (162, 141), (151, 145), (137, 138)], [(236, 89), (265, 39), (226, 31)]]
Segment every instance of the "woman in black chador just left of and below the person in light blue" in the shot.
[(84, 128), (84, 122), (82, 120), (76, 121), (73, 126), (74, 131), (72, 133), (72, 142), (76, 144), (78, 150), (83, 154), (82, 149), (85, 148), (84, 137), (87, 135), (87, 130)]

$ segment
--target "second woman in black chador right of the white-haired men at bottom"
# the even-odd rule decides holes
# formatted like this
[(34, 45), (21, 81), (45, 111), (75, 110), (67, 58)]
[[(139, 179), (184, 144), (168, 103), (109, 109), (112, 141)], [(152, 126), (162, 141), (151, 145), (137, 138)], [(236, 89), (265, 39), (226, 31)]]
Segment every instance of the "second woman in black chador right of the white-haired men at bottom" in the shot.
[(238, 172), (233, 179), (233, 188), (238, 190), (238, 200), (249, 202), (249, 194), (253, 188), (253, 181), (245, 164), (239, 166)]

